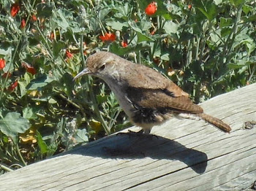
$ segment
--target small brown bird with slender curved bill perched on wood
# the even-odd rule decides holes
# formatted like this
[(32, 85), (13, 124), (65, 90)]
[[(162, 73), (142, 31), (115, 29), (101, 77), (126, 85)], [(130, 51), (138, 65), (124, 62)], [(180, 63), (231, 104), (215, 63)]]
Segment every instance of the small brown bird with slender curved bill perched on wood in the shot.
[(97, 52), (89, 56), (87, 68), (74, 79), (84, 74), (103, 79), (129, 119), (143, 128), (144, 133), (150, 133), (154, 125), (161, 125), (173, 116), (197, 117), (230, 133), (229, 125), (203, 113), (203, 109), (193, 104), (187, 93), (154, 69), (110, 52)]

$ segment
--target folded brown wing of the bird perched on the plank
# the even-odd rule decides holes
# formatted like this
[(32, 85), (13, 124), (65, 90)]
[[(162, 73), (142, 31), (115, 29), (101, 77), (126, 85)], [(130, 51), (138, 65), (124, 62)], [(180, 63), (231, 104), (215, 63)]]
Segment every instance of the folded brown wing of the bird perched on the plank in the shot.
[[(128, 82), (126, 92), (132, 103), (143, 108), (167, 109), (174, 112), (203, 112), (200, 106), (192, 103), (187, 93), (159, 72), (142, 65), (132, 71), (133, 78), (138, 79)], [(132, 79), (132, 76), (129, 79)]]

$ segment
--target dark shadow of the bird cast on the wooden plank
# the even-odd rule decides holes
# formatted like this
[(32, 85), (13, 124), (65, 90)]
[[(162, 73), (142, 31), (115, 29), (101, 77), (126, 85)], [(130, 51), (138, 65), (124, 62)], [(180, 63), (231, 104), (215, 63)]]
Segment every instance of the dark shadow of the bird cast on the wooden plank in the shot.
[[(111, 135), (90, 144), (72, 149), (65, 154), (77, 154), (113, 159), (135, 159), (151, 157), (157, 160), (179, 160), (197, 174), (206, 171), (206, 153), (189, 149), (162, 136), (122, 133)], [(64, 155), (65, 155), (64, 154)]]

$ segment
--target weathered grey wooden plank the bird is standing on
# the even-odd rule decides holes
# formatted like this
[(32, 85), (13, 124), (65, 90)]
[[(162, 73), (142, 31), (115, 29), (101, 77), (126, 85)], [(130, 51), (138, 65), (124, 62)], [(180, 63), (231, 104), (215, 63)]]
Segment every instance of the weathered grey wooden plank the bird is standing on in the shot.
[(153, 128), (157, 137), (112, 135), (4, 174), (0, 190), (249, 189), (256, 181), (256, 125), (243, 126), (256, 121), (256, 84), (201, 105), (232, 132), (174, 118)]

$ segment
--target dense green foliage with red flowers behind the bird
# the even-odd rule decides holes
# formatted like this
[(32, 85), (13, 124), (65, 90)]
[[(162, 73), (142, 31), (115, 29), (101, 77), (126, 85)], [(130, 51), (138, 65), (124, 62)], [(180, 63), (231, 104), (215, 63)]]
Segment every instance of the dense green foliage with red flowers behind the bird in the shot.
[[(197, 103), (256, 81), (254, 1), (156, 0), (152, 17), (140, 0), (18, 1), (15, 16), (0, 2), (5, 171), (130, 125), (102, 80), (72, 81), (95, 51), (154, 67)], [(102, 42), (106, 33), (116, 40)]]

